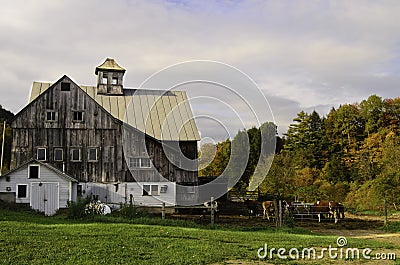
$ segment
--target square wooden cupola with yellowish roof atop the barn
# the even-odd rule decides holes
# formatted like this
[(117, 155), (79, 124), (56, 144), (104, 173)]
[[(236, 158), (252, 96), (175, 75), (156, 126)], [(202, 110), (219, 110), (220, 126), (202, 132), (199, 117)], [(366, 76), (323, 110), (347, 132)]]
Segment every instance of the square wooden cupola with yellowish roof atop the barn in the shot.
[(96, 67), (97, 94), (123, 95), (122, 80), (125, 69), (112, 58), (107, 58), (103, 64)]

